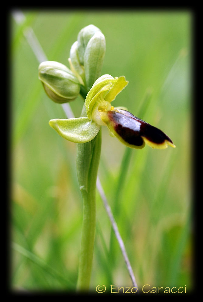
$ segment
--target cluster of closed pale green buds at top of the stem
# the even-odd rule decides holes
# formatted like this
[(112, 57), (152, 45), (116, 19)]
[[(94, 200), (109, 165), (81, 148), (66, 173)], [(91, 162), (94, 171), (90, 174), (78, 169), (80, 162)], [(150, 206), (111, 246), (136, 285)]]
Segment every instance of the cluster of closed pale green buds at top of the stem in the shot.
[(55, 61), (39, 66), (39, 79), (46, 94), (57, 103), (77, 98), (81, 88), (88, 92), (100, 77), (105, 56), (105, 37), (94, 25), (84, 27), (71, 47), (70, 68)]

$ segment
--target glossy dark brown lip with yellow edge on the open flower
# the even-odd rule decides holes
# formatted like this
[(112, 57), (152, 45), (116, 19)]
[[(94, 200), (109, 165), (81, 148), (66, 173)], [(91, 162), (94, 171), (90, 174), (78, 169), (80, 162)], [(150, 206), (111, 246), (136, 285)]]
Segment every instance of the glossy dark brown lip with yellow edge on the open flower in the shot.
[(145, 143), (152, 148), (164, 149), (168, 145), (175, 147), (172, 140), (160, 129), (139, 119), (126, 110), (107, 111), (104, 122), (108, 128), (127, 146), (143, 148)]

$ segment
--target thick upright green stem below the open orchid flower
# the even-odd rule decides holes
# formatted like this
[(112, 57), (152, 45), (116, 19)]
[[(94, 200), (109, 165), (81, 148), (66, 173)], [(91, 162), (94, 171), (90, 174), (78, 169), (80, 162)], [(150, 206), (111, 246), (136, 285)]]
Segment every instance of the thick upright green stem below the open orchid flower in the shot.
[(96, 226), (96, 179), (101, 152), (101, 130), (91, 141), (77, 144), (77, 174), (83, 199), (83, 223), (77, 290), (89, 289)]

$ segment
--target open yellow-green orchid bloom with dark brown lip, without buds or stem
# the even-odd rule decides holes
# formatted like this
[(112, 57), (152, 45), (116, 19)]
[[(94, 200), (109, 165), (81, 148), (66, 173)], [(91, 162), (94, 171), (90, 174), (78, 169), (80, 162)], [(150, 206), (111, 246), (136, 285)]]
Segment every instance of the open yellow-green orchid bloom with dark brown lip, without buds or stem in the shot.
[(142, 149), (145, 144), (156, 149), (175, 147), (172, 140), (160, 129), (134, 116), (123, 107), (113, 107), (111, 102), (128, 84), (125, 76), (99, 77), (89, 90), (81, 117), (53, 119), (50, 126), (71, 142), (91, 141), (107, 126), (110, 134), (130, 148)]

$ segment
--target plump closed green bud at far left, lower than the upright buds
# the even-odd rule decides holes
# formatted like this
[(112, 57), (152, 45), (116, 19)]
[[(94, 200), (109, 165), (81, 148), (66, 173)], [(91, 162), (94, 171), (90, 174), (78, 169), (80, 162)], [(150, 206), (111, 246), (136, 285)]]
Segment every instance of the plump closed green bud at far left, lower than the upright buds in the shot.
[(80, 93), (77, 77), (59, 62), (42, 62), (39, 65), (39, 79), (48, 97), (56, 103), (73, 101)]

